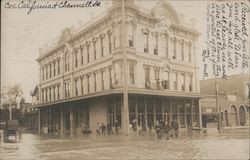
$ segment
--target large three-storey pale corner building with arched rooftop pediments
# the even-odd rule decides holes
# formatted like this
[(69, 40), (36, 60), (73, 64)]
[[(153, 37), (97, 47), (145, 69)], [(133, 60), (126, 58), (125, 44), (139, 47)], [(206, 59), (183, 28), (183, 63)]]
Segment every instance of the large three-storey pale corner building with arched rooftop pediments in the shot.
[[(124, 128), (134, 119), (139, 129), (160, 119), (200, 127), (198, 33), (182, 25), (165, 1), (152, 10), (126, 1), (125, 30), (123, 36), (121, 1), (113, 1), (102, 17), (77, 30), (65, 29), (58, 44), (41, 53), (37, 59), (41, 131), (95, 132), (98, 123), (114, 126), (118, 120)], [(123, 106), (124, 50), (129, 113)], [(126, 115), (128, 121), (123, 120)]]

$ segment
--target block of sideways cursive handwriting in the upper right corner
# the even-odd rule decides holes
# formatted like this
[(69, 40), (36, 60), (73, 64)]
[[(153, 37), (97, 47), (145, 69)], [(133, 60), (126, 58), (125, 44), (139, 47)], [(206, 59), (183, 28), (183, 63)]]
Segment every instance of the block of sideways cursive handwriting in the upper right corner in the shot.
[(228, 73), (249, 68), (249, 12), (250, 7), (243, 2), (207, 4), (203, 79), (227, 79)]

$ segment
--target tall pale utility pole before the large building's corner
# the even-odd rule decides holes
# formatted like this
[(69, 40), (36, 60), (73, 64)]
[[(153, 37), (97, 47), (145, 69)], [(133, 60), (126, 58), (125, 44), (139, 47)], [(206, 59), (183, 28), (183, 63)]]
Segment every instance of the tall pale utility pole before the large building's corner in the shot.
[(128, 110), (128, 88), (127, 88), (127, 29), (125, 17), (125, 0), (122, 0), (122, 50), (123, 50), (123, 132), (129, 134), (129, 110)]

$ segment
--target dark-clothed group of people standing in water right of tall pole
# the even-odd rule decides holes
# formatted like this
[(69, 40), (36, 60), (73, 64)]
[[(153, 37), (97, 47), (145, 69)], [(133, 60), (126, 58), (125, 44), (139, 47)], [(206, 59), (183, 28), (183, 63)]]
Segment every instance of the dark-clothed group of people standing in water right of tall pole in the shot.
[(171, 123), (166, 123), (165, 121), (160, 120), (160, 121), (157, 121), (155, 130), (156, 130), (158, 139), (162, 139), (164, 135), (166, 136), (166, 139), (169, 139), (169, 136), (178, 137), (179, 124), (176, 120), (173, 120)]

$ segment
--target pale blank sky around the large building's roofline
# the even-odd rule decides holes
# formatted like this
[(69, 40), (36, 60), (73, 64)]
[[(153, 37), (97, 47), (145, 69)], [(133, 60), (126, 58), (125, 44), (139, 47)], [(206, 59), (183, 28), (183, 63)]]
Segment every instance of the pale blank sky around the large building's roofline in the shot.
[[(204, 33), (206, 26), (206, 1), (169, 0), (181, 20), (190, 23), (196, 19), (195, 29)], [(31, 101), (30, 91), (39, 83), (39, 65), (36, 58), (39, 48), (46, 48), (57, 41), (66, 27), (78, 28), (91, 17), (100, 15), (111, 5), (111, 1), (101, 1), (101, 7), (81, 9), (34, 10), (6, 9), (7, 0), (1, 1), (1, 85), (20, 83), (24, 97)], [(139, 0), (137, 5), (151, 8), (156, 0)], [(204, 46), (205, 35), (198, 39), (197, 59)]]

